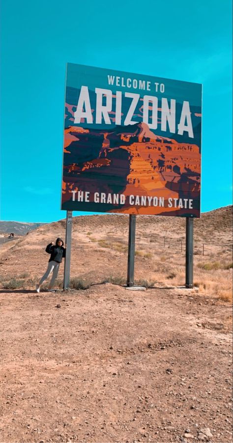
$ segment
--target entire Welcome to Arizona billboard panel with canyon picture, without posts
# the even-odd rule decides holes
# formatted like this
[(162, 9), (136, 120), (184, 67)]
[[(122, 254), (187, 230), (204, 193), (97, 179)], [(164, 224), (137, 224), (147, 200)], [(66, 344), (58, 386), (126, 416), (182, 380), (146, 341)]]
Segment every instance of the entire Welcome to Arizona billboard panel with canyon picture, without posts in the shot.
[(200, 217), (202, 85), (67, 64), (61, 209)]

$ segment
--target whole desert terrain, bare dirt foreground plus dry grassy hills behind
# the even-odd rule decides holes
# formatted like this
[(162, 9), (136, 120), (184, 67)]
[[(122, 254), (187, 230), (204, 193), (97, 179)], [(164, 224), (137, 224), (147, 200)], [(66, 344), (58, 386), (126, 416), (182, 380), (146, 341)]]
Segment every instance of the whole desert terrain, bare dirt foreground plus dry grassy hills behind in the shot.
[(0, 245), (0, 442), (232, 442), (232, 207), (194, 220), (73, 220), (70, 290), (39, 294), (65, 221)]

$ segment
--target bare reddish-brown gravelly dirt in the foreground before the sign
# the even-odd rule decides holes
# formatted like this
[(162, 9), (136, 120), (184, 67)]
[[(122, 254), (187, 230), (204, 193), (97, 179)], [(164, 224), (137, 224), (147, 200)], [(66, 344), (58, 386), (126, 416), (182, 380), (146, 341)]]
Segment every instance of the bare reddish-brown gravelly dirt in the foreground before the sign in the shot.
[(112, 284), (0, 292), (1, 442), (232, 441), (231, 305)]

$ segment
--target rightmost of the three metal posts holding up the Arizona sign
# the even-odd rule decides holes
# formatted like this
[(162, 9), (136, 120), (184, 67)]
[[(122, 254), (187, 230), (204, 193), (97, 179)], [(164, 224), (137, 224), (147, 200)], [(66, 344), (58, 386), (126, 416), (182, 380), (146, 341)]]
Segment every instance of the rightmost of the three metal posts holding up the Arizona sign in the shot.
[(193, 219), (186, 218), (185, 287), (193, 288)]

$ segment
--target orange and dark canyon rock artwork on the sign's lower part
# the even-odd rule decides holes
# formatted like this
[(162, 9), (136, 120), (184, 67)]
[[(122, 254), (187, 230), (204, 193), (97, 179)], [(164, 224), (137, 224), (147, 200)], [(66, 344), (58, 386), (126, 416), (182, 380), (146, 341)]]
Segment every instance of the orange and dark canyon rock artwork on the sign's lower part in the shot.
[(199, 146), (146, 123), (64, 131), (62, 209), (199, 217), (200, 177)]

